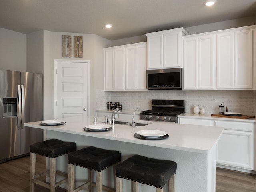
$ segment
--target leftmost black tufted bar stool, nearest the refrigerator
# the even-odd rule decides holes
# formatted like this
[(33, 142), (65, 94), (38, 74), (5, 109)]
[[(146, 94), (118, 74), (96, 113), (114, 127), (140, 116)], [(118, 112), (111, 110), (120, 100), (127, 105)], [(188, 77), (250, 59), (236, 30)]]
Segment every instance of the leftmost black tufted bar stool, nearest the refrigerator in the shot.
[[(31, 144), (30, 145), (30, 192), (34, 192), (34, 183), (50, 189), (51, 192), (54, 192), (57, 186), (67, 182), (68, 174), (56, 170), (56, 157), (62, 156), (64, 154), (67, 154), (75, 150), (76, 150), (76, 143), (64, 142), (58, 139), (50, 139), (50, 140)], [(36, 154), (50, 158), (50, 170), (46, 170), (46, 172), (35, 175)], [(50, 173), (50, 184), (37, 179), (40, 176), (44, 176), (48, 173)], [(65, 176), (66, 178), (63, 180), (60, 180), (59, 182), (56, 182), (55, 181), (56, 174)]]

